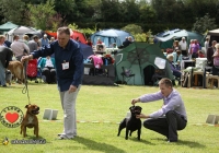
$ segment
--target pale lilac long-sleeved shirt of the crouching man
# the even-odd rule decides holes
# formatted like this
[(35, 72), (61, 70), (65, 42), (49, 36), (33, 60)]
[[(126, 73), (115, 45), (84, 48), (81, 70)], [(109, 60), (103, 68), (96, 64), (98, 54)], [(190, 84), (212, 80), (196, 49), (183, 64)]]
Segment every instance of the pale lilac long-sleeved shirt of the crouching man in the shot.
[(161, 91), (153, 94), (145, 94), (140, 96), (140, 102), (142, 103), (154, 102), (159, 99), (163, 99), (163, 106), (158, 111), (150, 114), (150, 118), (159, 118), (164, 116), (170, 110), (175, 110), (187, 120), (184, 102), (176, 90), (173, 90), (168, 97), (164, 97)]

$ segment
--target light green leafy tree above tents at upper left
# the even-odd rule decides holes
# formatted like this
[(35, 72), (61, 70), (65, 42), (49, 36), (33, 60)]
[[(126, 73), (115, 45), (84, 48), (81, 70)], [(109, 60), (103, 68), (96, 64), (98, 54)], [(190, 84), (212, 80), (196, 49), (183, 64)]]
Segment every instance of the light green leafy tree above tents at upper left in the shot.
[(47, 0), (46, 3), (41, 4), (27, 4), (27, 8), (30, 10), (30, 19), (31, 23), (34, 27), (39, 30), (48, 30), (53, 28), (53, 22), (50, 22), (54, 19), (54, 15), (56, 14), (56, 11), (54, 11), (54, 0)]

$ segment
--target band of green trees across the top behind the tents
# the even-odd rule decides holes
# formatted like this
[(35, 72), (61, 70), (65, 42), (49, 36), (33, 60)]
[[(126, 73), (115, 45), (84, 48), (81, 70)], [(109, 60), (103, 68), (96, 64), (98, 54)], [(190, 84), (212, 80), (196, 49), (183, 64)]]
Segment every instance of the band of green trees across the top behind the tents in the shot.
[(43, 30), (72, 23), (82, 28), (137, 24), (145, 32), (195, 30), (194, 24), (206, 13), (219, 23), (218, 0), (0, 0), (0, 3), (1, 23), (11, 21)]

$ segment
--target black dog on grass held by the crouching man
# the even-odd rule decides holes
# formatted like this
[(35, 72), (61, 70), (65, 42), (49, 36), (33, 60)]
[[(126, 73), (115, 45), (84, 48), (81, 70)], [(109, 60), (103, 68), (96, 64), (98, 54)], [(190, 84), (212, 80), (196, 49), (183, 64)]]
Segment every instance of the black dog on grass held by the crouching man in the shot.
[(141, 133), (141, 120), (139, 118), (136, 118), (136, 115), (140, 115), (141, 113), (141, 107), (140, 106), (131, 106), (130, 108), (130, 118), (125, 118), (119, 127), (118, 127), (118, 134), (120, 134), (120, 131), (126, 128), (126, 137), (125, 139), (127, 140), (128, 139), (128, 132), (130, 131), (129, 133), (129, 137), (131, 137), (131, 133), (136, 130), (138, 130), (138, 140), (140, 140), (140, 133)]

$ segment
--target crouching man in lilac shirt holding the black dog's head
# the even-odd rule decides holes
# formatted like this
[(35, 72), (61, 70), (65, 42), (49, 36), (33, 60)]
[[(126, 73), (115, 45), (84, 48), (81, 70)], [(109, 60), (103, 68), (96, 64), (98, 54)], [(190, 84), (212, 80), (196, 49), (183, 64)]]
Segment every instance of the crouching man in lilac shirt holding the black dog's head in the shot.
[(184, 102), (177, 91), (173, 89), (170, 79), (161, 79), (160, 91), (152, 94), (145, 94), (134, 98), (131, 104), (137, 102), (148, 103), (163, 99), (163, 106), (150, 115), (138, 115), (137, 118), (147, 118), (143, 126), (168, 138), (168, 142), (177, 142), (177, 130), (183, 130), (187, 123), (187, 116)]

